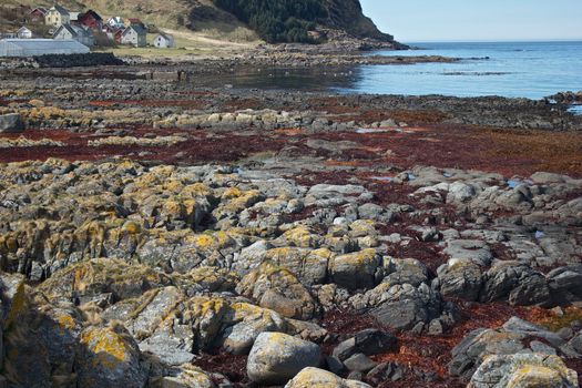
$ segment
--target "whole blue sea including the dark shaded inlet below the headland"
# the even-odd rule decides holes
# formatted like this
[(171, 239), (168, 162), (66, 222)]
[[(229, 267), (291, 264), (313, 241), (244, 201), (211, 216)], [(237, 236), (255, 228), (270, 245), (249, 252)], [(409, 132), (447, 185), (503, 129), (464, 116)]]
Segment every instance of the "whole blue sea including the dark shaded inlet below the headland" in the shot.
[(416, 50), (375, 51), (375, 55), (443, 55), (455, 63), (356, 65), (326, 69), (253, 69), (221, 81), (242, 88), (329, 90), (451, 96), (539, 100), (582, 91), (582, 41), (569, 42), (412, 42)]

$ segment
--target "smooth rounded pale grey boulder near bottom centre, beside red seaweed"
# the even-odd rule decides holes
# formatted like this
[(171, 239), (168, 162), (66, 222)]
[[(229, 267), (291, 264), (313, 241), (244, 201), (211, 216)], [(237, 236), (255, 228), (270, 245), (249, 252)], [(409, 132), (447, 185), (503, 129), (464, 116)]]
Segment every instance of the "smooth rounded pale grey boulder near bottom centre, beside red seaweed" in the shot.
[(319, 346), (280, 333), (261, 334), (248, 356), (248, 377), (262, 385), (280, 385), (302, 369), (319, 366)]

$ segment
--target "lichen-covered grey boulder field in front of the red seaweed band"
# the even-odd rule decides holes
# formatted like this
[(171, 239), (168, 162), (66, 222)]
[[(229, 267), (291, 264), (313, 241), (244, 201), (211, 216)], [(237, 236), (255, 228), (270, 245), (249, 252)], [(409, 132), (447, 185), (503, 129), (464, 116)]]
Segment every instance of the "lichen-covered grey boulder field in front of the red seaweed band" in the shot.
[[(420, 166), (397, 181), (1, 165), (0, 381), (578, 386), (582, 181)], [(441, 367), (410, 338), (448, 344)]]

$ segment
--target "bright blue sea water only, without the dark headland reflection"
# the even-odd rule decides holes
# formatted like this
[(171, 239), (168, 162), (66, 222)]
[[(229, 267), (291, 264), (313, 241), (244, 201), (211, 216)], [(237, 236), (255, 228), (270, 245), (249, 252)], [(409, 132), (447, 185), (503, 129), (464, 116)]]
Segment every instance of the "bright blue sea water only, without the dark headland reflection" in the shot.
[(388, 94), (502, 95), (541, 99), (582, 90), (582, 42), (413, 43), (425, 50), (382, 55), (489, 58), (411, 67), (361, 67), (345, 91)]

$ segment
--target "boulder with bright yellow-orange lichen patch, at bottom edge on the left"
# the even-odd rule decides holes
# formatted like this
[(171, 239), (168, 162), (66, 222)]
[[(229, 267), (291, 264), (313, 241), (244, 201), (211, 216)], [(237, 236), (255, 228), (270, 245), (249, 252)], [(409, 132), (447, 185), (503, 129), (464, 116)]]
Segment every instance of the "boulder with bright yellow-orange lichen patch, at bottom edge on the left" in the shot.
[(89, 327), (80, 338), (75, 370), (82, 387), (143, 388), (147, 370), (140, 363), (140, 349), (121, 325)]

